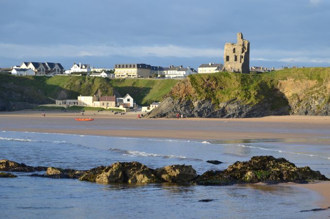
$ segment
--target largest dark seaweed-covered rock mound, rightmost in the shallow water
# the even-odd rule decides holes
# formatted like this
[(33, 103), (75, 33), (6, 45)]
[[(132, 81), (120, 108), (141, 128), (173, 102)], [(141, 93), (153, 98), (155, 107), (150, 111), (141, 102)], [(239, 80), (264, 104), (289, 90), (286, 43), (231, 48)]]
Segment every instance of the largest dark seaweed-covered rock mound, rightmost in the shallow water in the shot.
[(249, 161), (237, 161), (223, 171), (207, 171), (196, 180), (199, 185), (231, 185), (258, 182), (303, 182), (329, 180), (319, 171), (297, 167), (284, 158), (256, 156)]

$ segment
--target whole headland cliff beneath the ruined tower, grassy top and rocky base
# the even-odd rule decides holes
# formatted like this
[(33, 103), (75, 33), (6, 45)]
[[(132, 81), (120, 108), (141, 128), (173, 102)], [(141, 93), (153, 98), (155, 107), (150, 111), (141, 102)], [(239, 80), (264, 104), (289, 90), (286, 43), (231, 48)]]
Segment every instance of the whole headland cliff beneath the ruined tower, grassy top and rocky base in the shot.
[(330, 114), (330, 68), (263, 74), (190, 75), (147, 117), (264, 117)]

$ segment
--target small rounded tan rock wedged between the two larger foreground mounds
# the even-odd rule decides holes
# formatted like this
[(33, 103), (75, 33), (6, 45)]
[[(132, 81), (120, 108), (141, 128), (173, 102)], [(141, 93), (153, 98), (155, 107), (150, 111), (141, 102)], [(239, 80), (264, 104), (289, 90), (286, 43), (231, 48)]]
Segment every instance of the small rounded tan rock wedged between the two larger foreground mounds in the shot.
[(158, 168), (153, 173), (165, 182), (189, 182), (197, 176), (191, 165), (184, 164)]

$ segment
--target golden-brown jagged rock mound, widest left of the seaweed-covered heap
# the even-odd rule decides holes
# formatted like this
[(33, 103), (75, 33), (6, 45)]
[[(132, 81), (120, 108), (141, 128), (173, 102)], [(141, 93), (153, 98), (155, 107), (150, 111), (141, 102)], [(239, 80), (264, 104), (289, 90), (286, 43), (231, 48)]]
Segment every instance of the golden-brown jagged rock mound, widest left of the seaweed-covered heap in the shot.
[(139, 162), (116, 162), (107, 167), (94, 168), (87, 171), (79, 180), (99, 183), (127, 182), (154, 183), (160, 180), (152, 174), (152, 170)]

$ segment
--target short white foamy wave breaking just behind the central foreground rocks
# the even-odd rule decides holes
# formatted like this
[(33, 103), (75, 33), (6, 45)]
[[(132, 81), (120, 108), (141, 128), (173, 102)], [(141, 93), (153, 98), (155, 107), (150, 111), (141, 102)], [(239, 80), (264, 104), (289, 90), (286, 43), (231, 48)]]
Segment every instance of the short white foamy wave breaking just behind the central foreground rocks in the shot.
[(172, 158), (172, 159), (179, 159), (179, 160), (186, 160), (186, 161), (203, 161), (201, 159), (187, 158), (184, 156), (153, 154), (153, 153), (147, 153), (147, 152), (143, 152), (143, 151), (123, 150), (123, 149), (118, 149), (118, 148), (108, 148), (108, 149), (115, 153), (120, 153), (124, 156), (131, 156), (131, 157), (162, 157), (164, 159)]

